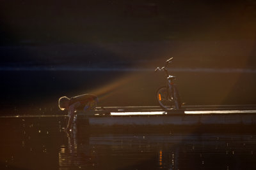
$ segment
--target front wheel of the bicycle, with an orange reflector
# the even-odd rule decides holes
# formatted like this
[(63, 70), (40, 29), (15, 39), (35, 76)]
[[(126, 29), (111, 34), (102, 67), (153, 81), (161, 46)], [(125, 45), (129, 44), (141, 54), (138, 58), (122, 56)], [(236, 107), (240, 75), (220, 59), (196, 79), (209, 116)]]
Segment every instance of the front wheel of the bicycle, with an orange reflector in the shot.
[(170, 110), (173, 108), (173, 100), (170, 98), (168, 87), (163, 86), (159, 87), (156, 91), (156, 99), (157, 103), (163, 108), (164, 110)]

